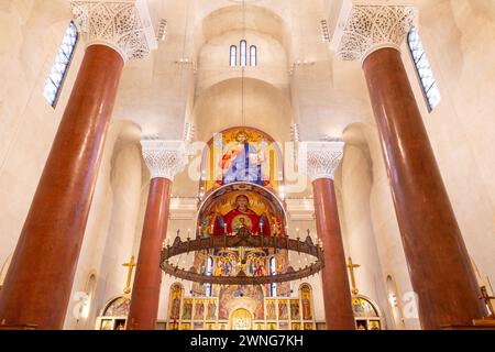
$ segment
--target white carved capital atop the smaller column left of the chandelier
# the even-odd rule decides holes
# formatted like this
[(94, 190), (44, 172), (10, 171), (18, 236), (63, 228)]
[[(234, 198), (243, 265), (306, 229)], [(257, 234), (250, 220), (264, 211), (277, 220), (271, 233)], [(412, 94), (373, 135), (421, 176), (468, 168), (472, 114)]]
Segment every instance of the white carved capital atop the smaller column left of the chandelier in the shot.
[(186, 166), (183, 141), (143, 140), (141, 146), (151, 178), (162, 177), (174, 180), (174, 177)]

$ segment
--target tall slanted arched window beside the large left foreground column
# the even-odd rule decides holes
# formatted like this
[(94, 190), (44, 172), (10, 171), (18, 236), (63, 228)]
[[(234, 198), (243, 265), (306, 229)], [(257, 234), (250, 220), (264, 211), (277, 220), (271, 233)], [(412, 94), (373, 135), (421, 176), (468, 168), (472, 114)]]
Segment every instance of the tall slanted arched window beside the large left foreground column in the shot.
[(48, 78), (46, 79), (43, 95), (48, 103), (55, 108), (61, 96), (62, 86), (67, 75), (70, 61), (73, 59), (74, 48), (76, 47), (79, 35), (76, 25), (70, 22), (65, 32), (64, 40), (58, 50), (55, 64), (52, 66)]

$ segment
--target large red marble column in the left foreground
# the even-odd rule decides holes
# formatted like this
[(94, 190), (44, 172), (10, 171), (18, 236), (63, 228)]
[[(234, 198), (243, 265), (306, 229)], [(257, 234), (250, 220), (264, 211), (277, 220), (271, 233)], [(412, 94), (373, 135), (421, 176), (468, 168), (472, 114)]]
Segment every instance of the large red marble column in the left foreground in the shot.
[(61, 329), (124, 62), (89, 46), (0, 295), (0, 328)]

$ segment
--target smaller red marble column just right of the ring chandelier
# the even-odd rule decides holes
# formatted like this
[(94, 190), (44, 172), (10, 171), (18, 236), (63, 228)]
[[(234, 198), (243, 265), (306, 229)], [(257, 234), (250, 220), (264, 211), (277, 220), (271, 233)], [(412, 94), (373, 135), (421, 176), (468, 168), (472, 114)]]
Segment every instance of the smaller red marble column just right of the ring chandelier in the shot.
[(336, 189), (330, 178), (312, 182), (318, 235), (323, 243), (324, 318), (328, 330), (354, 330), (355, 320), (340, 231)]

